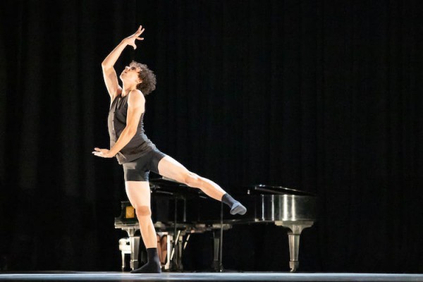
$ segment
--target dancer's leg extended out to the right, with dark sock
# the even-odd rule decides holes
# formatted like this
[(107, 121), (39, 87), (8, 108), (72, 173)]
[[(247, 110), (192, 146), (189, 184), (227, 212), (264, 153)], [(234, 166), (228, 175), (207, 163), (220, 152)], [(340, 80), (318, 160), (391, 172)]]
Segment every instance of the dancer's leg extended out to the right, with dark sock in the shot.
[(190, 187), (199, 188), (209, 197), (227, 204), (231, 208), (231, 214), (245, 214), (247, 212), (247, 209), (240, 202), (234, 200), (219, 185), (212, 180), (188, 171), (185, 166), (169, 156), (159, 161), (159, 174)]

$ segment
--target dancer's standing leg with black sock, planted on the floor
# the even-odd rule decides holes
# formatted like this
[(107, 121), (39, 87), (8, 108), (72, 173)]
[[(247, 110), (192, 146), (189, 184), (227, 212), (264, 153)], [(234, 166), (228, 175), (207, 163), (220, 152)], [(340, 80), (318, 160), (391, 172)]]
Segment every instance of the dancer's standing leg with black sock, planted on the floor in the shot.
[(147, 181), (125, 181), (126, 195), (135, 208), (140, 223), (142, 241), (147, 249), (147, 264), (131, 273), (160, 273), (160, 261), (157, 253), (157, 235), (152, 221), (150, 208), (150, 189)]

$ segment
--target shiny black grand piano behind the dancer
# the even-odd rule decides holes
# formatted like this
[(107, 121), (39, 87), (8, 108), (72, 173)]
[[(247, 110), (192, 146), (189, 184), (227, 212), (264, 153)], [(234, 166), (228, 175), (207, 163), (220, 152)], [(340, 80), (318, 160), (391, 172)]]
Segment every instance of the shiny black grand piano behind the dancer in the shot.
[[(288, 228), (290, 271), (298, 270), (300, 235), (317, 219), (317, 197), (309, 192), (270, 185), (253, 185), (247, 195), (237, 200), (247, 207), (243, 216), (231, 215), (223, 204), (204, 195), (201, 190), (189, 188), (166, 178), (150, 180), (152, 190), (152, 219), (159, 235), (166, 235), (166, 262), (163, 269), (182, 271), (182, 251), (192, 233), (212, 231), (214, 235), (215, 271), (223, 271), (223, 231), (236, 224), (273, 223)], [(122, 269), (125, 254), (130, 255), (130, 269), (138, 267), (140, 227), (135, 210), (129, 202), (121, 202), (121, 214), (115, 218), (115, 228), (128, 233), (119, 241), (122, 251)]]

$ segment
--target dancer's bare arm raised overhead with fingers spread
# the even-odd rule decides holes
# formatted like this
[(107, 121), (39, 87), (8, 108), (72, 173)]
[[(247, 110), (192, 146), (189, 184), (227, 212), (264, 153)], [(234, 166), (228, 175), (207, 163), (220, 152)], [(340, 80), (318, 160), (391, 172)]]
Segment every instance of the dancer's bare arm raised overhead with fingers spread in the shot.
[(116, 46), (116, 48), (111, 51), (111, 53), (106, 56), (106, 59), (102, 62), (102, 69), (103, 69), (103, 77), (104, 83), (106, 83), (107, 92), (109, 92), (111, 101), (114, 100), (117, 94), (122, 91), (121, 86), (119, 86), (118, 82), (118, 75), (116, 75), (116, 71), (114, 69), (114, 64), (118, 61), (119, 56), (121, 56), (123, 49), (126, 46), (130, 45), (134, 49), (137, 49), (137, 45), (135, 45), (135, 40), (144, 40), (144, 38), (140, 37), (142, 32), (144, 32), (144, 28), (142, 25), (138, 28), (137, 32), (135, 32), (130, 37), (126, 37), (122, 40), (121, 43)]

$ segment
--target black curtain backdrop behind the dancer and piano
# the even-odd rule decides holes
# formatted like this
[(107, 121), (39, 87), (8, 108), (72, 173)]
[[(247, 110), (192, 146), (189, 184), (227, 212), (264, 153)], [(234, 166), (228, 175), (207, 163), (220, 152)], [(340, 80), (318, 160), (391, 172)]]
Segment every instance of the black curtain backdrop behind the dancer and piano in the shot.
[[(120, 269), (123, 173), (91, 151), (109, 145), (100, 63), (142, 24), (116, 69), (135, 59), (157, 74), (145, 129), (161, 151), (233, 194), (317, 193), (302, 271), (423, 271), (422, 1), (2, 1), (0, 13), (1, 269)], [(187, 267), (209, 259), (207, 236)], [(227, 269), (288, 270), (276, 226), (234, 227), (223, 249)]]

